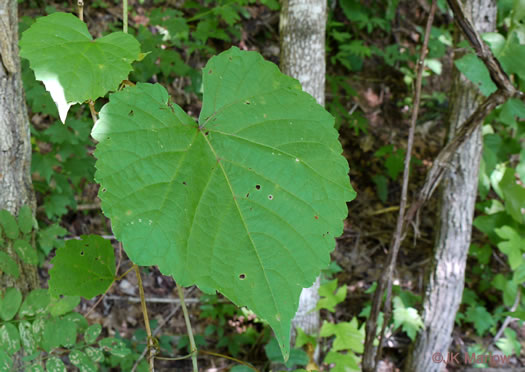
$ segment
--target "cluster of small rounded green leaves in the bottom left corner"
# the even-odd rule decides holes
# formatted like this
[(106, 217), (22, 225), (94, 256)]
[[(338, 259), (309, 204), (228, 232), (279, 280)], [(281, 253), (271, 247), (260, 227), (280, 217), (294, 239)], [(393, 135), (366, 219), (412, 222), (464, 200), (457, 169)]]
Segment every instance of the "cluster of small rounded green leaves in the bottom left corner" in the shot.
[[(17, 289), (5, 290), (0, 296), (0, 370), (9, 370), (13, 354), (19, 350), (26, 355), (26, 371), (42, 370), (38, 363), (45, 353), (48, 371), (66, 370), (58, 356), (67, 355), (81, 371), (100, 371), (98, 364), (108, 354), (117, 364), (126, 358), (131, 350), (121, 340), (97, 341), (102, 327), (88, 327), (86, 319), (73, 312), (79, 302), (80, 298), (74, 296), (52, 297), (46, 289), (33, 290), (25, 298)], [(147, 367), (142, 365), (138, 370), (145, 371)]]

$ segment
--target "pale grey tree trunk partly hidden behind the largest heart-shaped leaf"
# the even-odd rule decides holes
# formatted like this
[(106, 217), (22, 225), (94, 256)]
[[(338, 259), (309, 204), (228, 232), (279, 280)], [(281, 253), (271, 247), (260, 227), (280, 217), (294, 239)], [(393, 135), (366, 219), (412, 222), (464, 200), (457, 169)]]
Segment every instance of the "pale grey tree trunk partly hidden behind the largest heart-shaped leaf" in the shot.
[[(326, 0), (283, 0), (281, 5), (281, 71), (299, 80), (303, 90), (324, 106)], [(292, 321), (294, 328), (307, 334), (319, 332), (319, 312), (311, 311), (319, 301), (318, 290), (319, 278), (303, 289)]]

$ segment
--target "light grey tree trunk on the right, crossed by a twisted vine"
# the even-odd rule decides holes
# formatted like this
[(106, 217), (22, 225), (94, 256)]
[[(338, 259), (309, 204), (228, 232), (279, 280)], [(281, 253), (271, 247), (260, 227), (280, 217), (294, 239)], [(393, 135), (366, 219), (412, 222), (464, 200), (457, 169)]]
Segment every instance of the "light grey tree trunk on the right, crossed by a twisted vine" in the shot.
[[(463, 6), (477, 31), (495, 29), (495, 0), (464, 0)], [(481, 98), (479, 89), (455, 70), (449, 140), (475, 111)], [(434, 363), (432, 356), (441, 353), (446, 359), (461, 303), (482, 149), (480, 128), (458, 149), (443, 178), (434, 259), (423, 302), (424, 328), (409, 353), (406, 371), (439, 372), (444, 369), (444, 364)]]

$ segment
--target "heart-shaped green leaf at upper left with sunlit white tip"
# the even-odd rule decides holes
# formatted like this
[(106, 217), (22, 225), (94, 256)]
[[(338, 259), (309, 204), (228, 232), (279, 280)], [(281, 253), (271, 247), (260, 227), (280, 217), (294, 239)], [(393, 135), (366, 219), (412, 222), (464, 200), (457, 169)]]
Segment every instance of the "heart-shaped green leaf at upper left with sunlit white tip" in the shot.
[(38, 18), (20, 40), (20, 56), (51, 93), (63, 123), (71, 105), (116, 90), (139, 54), (133, 36), (114, 32), (93, 41), (84, 22), (60, 12)]

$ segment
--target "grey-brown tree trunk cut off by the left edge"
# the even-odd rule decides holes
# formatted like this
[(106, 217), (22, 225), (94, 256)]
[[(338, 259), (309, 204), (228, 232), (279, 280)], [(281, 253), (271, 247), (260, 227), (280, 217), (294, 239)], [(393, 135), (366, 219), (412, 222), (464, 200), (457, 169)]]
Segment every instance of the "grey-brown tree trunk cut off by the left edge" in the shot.
[[(0, 209), (17, 215), (20, 207), (35, 210), (31, 183), (31, 138), (18, 57), (17, 0), (0, 2)], [(38, 285), (36, 267), (22, 264), (11, 243), (0, 247), (18, 262), (18, 279), (0, 274), (0, 289), (27, 293)]]

